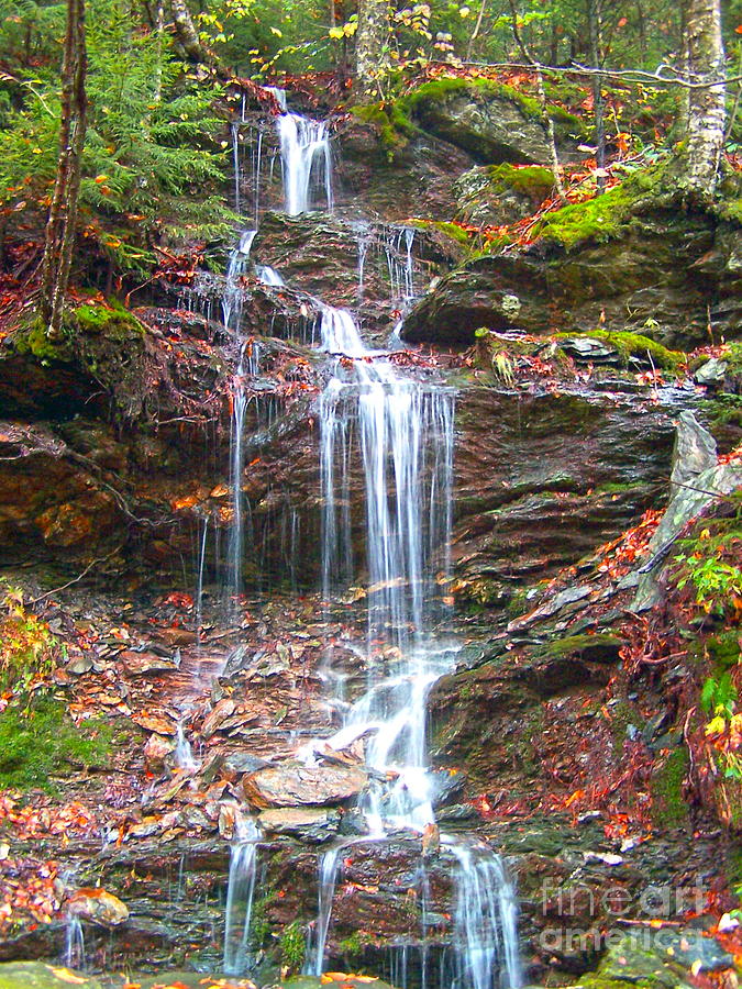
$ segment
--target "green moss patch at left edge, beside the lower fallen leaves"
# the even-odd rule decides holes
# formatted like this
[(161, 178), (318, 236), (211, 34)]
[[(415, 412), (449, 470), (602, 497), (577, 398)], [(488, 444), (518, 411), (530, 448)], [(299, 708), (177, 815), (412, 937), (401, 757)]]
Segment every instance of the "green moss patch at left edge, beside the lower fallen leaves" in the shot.
[(41, 698), (21, 711), (9, 707), (0, 713), (0, 788), (54, 791), (54, 776), (74, 768), (103, 767), (110, 747), (110, 729), (99, 721), (76, 725), (65, 705)]

